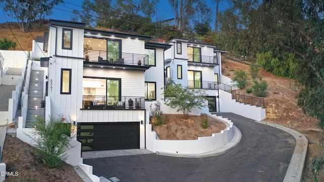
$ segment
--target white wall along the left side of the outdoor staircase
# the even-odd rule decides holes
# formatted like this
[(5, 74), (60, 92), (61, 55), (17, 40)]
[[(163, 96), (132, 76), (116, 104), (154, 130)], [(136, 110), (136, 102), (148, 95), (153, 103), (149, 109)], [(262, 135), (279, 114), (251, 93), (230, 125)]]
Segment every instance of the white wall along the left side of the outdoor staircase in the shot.
[(27, 118), (27, 109), (28, 109), (28, 90), (29, 90), (29, 81), (30, 81), (30, 73), (31, 73), (32, 61), (28, 61), (26, 79), (24, 91), (21, 94), (21, 116), (18, 117), (18, 128), (24, 128), (26, 124)]

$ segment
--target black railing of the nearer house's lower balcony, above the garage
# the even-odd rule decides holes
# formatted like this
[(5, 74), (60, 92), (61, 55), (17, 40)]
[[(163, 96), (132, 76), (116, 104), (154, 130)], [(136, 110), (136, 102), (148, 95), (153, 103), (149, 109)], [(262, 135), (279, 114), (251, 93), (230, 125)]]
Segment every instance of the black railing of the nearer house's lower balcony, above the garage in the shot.
[(83, 96), (83, 109), (144, 109), (144, 97)]

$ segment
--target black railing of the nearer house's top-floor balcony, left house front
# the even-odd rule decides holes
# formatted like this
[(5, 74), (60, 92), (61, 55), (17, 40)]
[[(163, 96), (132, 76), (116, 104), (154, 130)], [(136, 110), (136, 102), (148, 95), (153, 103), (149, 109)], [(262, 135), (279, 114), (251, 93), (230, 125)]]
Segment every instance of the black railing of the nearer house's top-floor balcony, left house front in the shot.
[[(87, 55), (89, 59), (86, 59)], [(84, 53), (84, 58), (85, 61), (104, 64), (148, 66), (148, 56), (141, 54), (89, 50)]]

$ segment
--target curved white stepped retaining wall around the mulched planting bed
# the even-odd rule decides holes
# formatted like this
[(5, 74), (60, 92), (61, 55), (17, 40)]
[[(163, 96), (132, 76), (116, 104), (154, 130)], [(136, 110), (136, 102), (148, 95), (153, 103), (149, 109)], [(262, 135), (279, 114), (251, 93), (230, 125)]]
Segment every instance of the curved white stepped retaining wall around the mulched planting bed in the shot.
[(152, 152), (165, 152), (174, 154), (201, 154), (216, 150), (233, 139), (234, 128), (231, 120), (220, 116), (213, 116), (226, 124), (226, 128), (212, 136), (199, 137), (198, 140), (158, 140), (152, 125), (146, 125), (146, 149)]

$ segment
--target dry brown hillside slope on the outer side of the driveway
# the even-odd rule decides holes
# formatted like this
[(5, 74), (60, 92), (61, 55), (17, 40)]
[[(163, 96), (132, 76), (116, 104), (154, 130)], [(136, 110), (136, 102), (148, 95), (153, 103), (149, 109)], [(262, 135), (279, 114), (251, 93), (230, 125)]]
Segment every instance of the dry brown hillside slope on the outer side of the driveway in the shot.
[[(250, 66), (222, 58), (223, 75), (232, 78), (234, 71), (237, 69), (249, 73)], [(322, 131), (317, 127), (317, 120), (305, 115), (297, 106), (297, 100), (295, 99), (297, 91), (294, 80), (274, 76), (262, 68), (259, 69), (259, 75), (268, 82), (268, 96), (265, 98), (266, 118), (264, 121), (292, 128), (306, 136), (309, 141), (305, 164), (307, 167), (310, 159), (321, 156), (321, 151), (323, 151), (323, 147), (319, 146), (319, 140), (323, 136)], [(248, 87), (250, 86), (251, 80)], [(253, 96), (253, 94), (247, 94), (246, 89), (239, 89), (236, 92)], [(304, 181), (311, 181), (308, 169), (305, 172)], [(321, 171), (319, 176), (324, 176), (324, 172)], [(319, 181), (324, 181), (324, 177), (320, 178)]]

